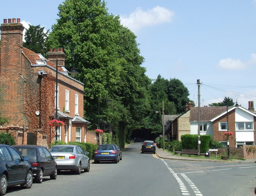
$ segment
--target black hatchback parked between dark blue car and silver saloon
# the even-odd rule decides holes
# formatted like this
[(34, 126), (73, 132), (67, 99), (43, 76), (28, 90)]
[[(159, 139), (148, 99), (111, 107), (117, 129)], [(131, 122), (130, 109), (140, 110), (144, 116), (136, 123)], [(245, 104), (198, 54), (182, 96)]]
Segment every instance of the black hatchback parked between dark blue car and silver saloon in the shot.
[(38, 145), (14, 145), (21, 156), (28, 157), (32, 167), (34, 181), (42, 183), (43, 176), (57, 178), (57, 163), (46, 147)]

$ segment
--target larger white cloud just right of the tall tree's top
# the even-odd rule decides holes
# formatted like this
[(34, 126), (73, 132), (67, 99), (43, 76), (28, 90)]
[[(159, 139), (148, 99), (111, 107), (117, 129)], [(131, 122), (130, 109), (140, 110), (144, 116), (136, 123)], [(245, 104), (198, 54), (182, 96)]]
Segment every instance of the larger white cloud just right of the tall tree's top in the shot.
[(173, 17), (174, 12), (166, 8), (156, 6), (147, 11), (137, 8), (128, 18), (120, 16), (120, 20), (121, 24), (128, 27), (131, 31), (138, 31), (146, 26), (171, 22)]

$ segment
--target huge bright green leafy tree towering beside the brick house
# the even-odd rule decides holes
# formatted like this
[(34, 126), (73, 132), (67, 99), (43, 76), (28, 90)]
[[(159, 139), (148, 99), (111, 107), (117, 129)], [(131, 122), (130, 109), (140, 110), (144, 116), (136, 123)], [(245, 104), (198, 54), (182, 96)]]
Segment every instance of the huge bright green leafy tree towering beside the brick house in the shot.
[[(84, 83), (85, 118), (97, 126), (106, 121), (119, 137), (120, 146), (133, 126), (141, 126), (149, 108), (149, 78), (140, 67), (136, 37), (108, 14), (101, 0), (66, 0), (49, 35), (48, 47), (63, 47), (66, 62), (77, 65)], [(106, 102), (108, 100), (108, 103)], [(100, 106), (98, 108), (98, 105)]]

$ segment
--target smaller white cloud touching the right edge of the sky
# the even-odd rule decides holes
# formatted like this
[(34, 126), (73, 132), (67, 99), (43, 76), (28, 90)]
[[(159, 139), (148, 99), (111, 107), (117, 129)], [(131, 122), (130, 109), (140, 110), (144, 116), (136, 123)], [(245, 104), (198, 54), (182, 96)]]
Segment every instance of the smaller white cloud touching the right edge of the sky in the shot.
[(251, 54), (250, 59), (246, 62), (232, 58), (221, 59), (217, 67), (219, 69), (241, 70), (248, 69), (251, 65), (256, 65), (256, 54)]

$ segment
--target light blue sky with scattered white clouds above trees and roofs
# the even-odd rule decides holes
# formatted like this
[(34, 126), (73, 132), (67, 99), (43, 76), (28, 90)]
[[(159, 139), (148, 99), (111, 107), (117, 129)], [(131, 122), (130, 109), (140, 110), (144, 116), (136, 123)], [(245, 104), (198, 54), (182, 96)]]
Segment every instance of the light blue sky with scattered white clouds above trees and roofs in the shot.
[[(1, 1), (3, 19), (50, 29), (63, 0)], [(232, 98), (256, 109), (256, 0), (105, 0), (139, 44), (146, 75), (179, 79), (190, 100), (208, 106)], [(197, 84), (200, 80), (200, 85)], [(200, 93), (199, 93), (200, 92)]]

